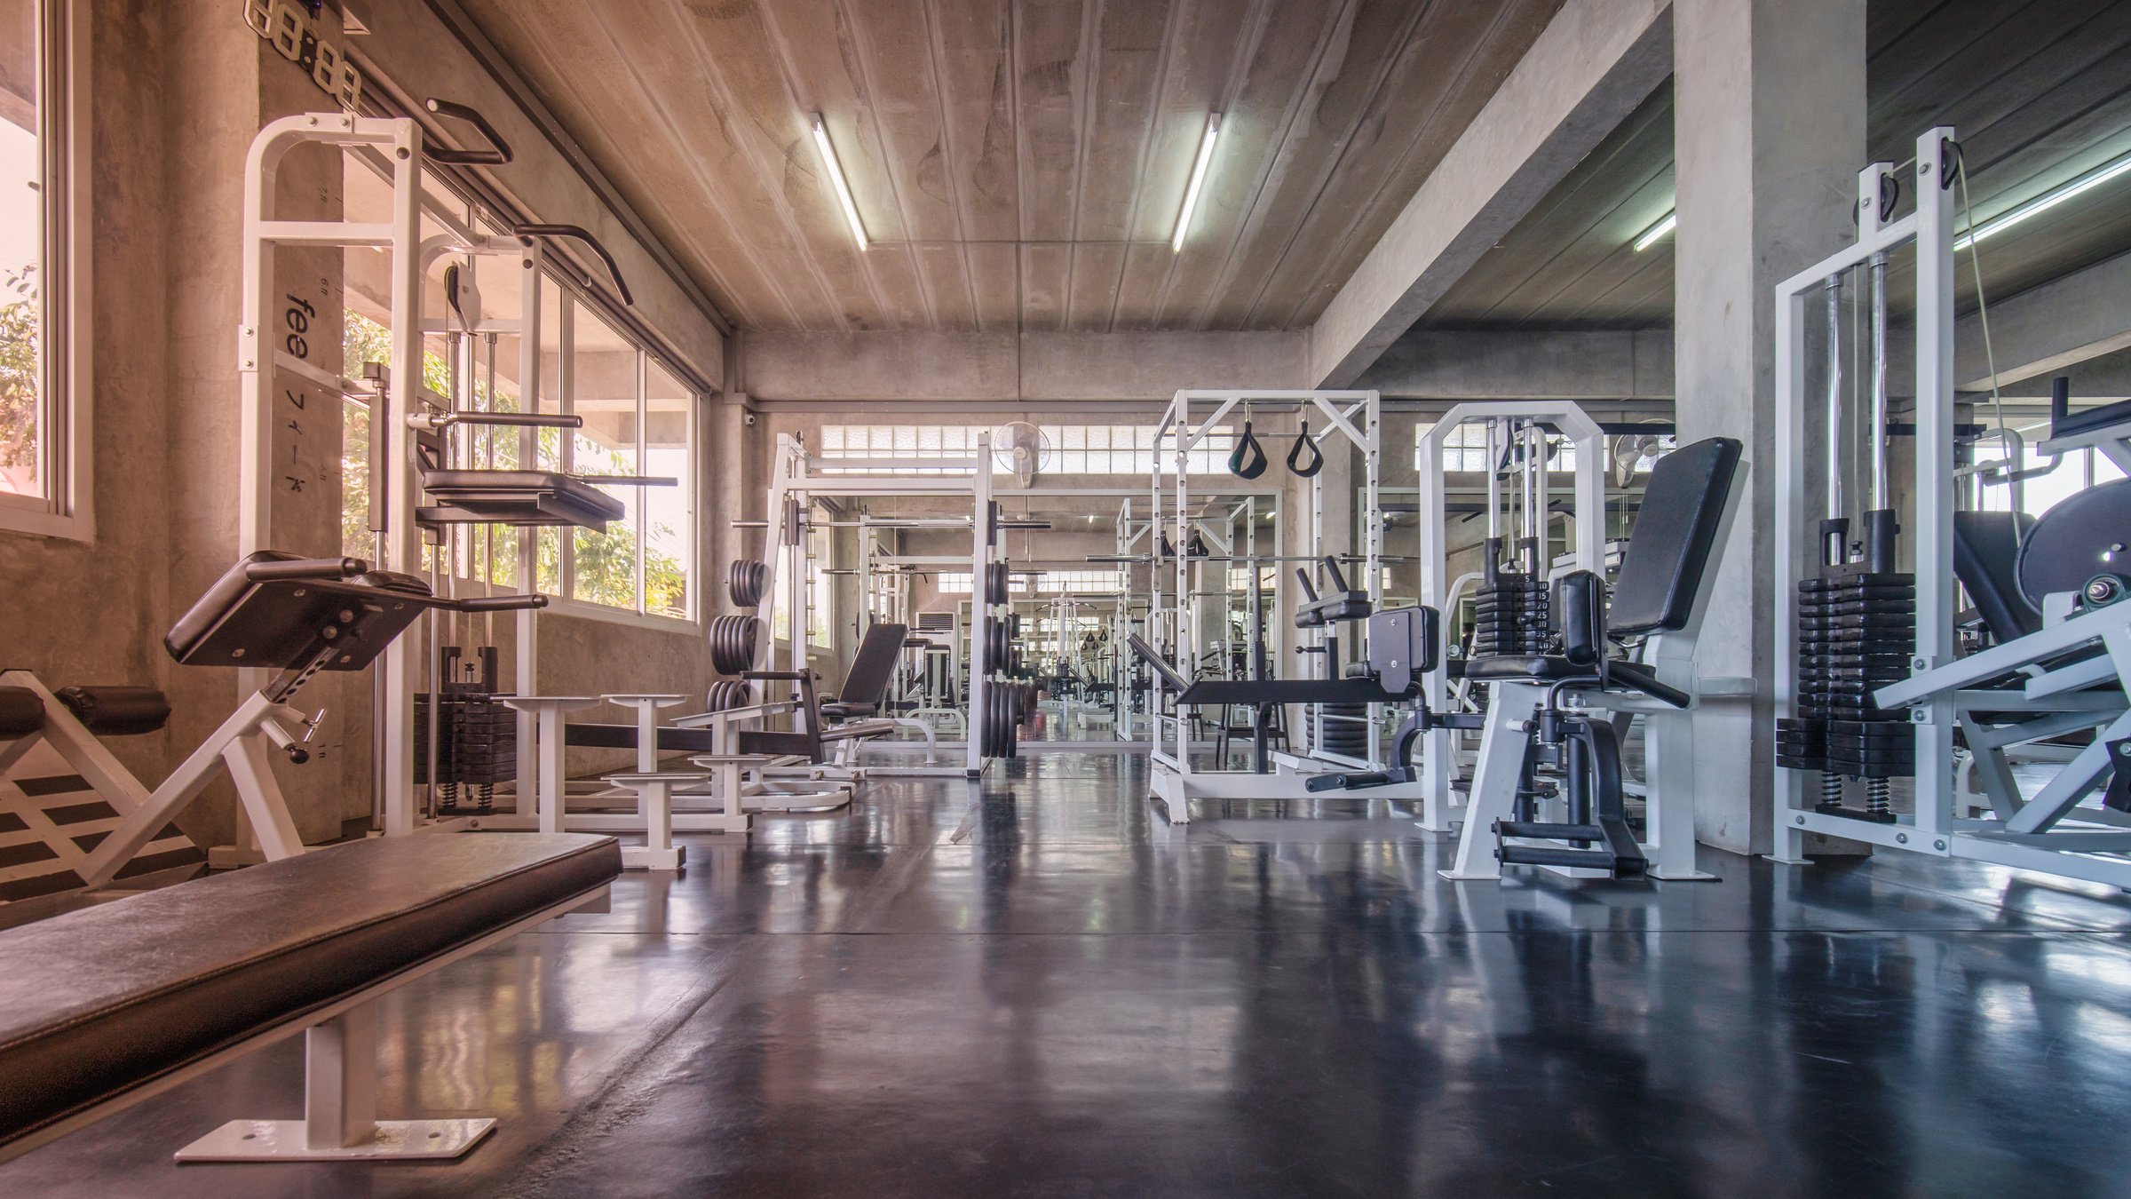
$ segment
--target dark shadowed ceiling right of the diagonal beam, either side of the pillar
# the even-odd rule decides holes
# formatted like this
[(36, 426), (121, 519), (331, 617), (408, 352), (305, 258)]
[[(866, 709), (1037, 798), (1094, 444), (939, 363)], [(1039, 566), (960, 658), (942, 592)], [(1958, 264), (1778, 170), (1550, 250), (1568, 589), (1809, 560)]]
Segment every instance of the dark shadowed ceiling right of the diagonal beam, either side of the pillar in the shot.
[[(2131, 149), (2131, 0), (1873, 0), (1869, 41), (1871, 156), (1903, 162), (1916, 134), (1954, 126), (1978, 220)], [(2131, 250), (2127, 198), (2131, 177), (2120, 177), (1984, 241), (1990, 299)], [(1664, 87), (1417, 329), (1669, 326), (1671, 239), (1643, 254), (1630, 243), (1671, 207)], [(1965, 260), (1958, 288), (1973, 305)]]

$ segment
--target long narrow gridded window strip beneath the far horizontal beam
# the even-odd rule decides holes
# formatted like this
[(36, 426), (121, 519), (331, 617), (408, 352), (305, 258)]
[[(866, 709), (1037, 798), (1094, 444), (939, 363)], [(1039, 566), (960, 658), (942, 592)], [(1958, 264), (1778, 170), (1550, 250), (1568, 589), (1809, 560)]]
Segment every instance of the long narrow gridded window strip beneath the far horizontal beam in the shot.
[[(976, 452), (976, 435), (985, 425), (825, 425), (820, 429), (820, 459), (908, 459), (910, 465), (886, 467), (884, 474), (961, 474), (965, 467), (925, 465), (927, 459), (967, 459)], [(1166, 446), (1155, 444), (1153, 425), (1040, 425), (1051, 452), (1042, 474), (1132, 474), (1149, 476), (1155, 461), (1170, 474), (1176, 465), (1176, 439)], [(993, 435), (997, 448), (997, 435)], [(1234, 431), (1208, 433), (1191, 448), (1189, 474), (1227, 471), (1227, 454), (1236, 448)], [(852, 467), (865, 474), (882, 474), (876, 467)], [(1008, 469), (1006, 461), (997, 469)], [(825, 474), (840, 474), (842, 467), (823, 467)]]

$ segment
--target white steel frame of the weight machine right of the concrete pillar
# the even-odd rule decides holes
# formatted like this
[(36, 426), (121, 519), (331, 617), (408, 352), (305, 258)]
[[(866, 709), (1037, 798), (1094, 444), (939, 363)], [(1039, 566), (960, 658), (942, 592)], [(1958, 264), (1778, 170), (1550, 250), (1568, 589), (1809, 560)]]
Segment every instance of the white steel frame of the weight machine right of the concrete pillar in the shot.
[[(2041, 632), (1995, 646), (1967, 659), (1954, 657), (1954, 198), (1941, 181), (1941, 164), (1952, 160), (1954, 130), (1939, 126), (1916, 139), (1912, 188), (1916, 211), (1901, 220), (1877, 222), (1880, 177), (1894, 169), (1875, 162), (1858, 173), (1858, 239), (1854, 245), (1822, 258), (1777, 284), (1775, 290), (1775, 593), (1777, 593), (1777, 661), (1796, 659), (1796, 585), (1816, 567), (1813, 514), (1805, 506), (1807, 416), (1813, 410), (1807, 395), (1805, 331), (1807, 303), (1822, 292), (1826, 279), (1892, 254), (1916, 247), (1916, 510), (1903, 521), (1914, 529), (1916, 550), (1916, 644), (1912, 676), (1884, 687), (1882, 706), (1907, 704), (1916, 725), (1916, 809), (1894, 824), (1873, 824), (1813, 811), (1801, 770), (1775, 770), (1775, 853), (1777, 862), (1805, 864), (1805, 834), (1818, 832), (1865, 841), (1880, 849), (1905, 849), (1935, 858), (1969, 858), (2022, 870), (2041, 870), (2073, 879), (2131, 888), (2131, 832), (2118, 813), (2078, 806), (2105, 764), (2103, 738), (2131, 734), (2131, 715), (2122, 713), (2112, 685), (2131, 683), (2131, 606), (2108, 606), (2048, 623)], [(2125, 433), (2097, 431), (2082, 437), (2046, 442), (2044, 452), (2065, 452), (2097, 446), (2118, 465), (2131, 465)], [(2101, 644), (2108, 653), (2073, 666), (2046, 668), (2050, 657), (2080, 644)], [(2029, 678), (2016, 693), (1967, 691), (1984, 681), (2024, 672)], [(2024, 704), (2037, 725), (1992, 730), (1982, 745), (1971, 745), (1978, 772), (1997, 772), (1990, 819), (1969, 819), (1967, 798), (1956, 783), (1954, 730), (1963, 721), (1971, 732), (1984, 732), (1973, 710), (2003, 710)], [(1792, 672), (1775, 676), (1777, 717), (1796, 710)], [(2048, 730), (2103, 728), (2088, 751), (2082, 751), (2033, 800), (2018, 802), (2010, 774), (1997, 762), (2022, 734), (2048, 736)], [(2044, 732), (2037, 732), (2044, 730)], [(2078, 815), (2078, 826), (2056, 824)]]

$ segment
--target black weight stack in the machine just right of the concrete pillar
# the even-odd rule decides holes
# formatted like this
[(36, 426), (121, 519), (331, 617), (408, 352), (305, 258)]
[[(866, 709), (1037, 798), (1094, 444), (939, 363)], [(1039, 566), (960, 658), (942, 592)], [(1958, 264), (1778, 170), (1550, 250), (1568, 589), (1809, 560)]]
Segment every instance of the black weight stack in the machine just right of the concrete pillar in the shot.
[[(1822, 565), (1799, 582), (1799, 715), (1777, 721), (1775, 760), (1820, 772), (1818, 811), (1892, 824), (1886, 781), (1914, 772), (1916, 725), (1905, 708), (1873, 704), (1873, 691), (1909, 676), (1916, 576), (1873, 570), (1892, 559), (1892, 514), (1867, 521), (1875, 533), (1867, 559)], [(1843, 523), (1824, 529), (1843, 533)], [(1865, 811), (1843, 806), (1843, 779), (1865, 781)]]

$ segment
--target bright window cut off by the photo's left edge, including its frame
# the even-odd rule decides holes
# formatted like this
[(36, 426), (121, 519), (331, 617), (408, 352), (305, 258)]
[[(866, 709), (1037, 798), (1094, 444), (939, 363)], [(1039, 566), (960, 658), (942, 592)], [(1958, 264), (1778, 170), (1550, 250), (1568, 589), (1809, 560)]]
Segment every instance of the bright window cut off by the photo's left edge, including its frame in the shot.
[(0, 0), (0, 525), (72, 533), (66, 0)]

